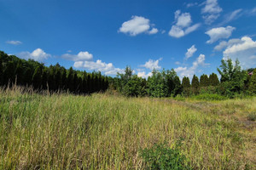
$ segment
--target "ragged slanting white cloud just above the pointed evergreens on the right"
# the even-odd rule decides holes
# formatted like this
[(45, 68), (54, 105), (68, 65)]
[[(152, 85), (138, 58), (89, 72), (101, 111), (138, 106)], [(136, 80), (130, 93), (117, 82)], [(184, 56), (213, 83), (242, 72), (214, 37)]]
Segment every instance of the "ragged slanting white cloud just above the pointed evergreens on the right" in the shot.
[(206, 59), (206, 56), (204, 54), (200, 54), (198, 56), (197, 59), (195, 59), (195, 61), (193, 62), (193, 65), (191, 67), (177, 67), (176, 69), (174, 69), (174, 71), (177, 72), (177, 74), (180, 76), (180, 77), (189, 77), (189, 78), (192, 78), (193, 75), (199, 71), (198, 68), (199, 66), (206, 66), (206, 65), (209, 65), (207, 63), (205, 63), (205, 59)]

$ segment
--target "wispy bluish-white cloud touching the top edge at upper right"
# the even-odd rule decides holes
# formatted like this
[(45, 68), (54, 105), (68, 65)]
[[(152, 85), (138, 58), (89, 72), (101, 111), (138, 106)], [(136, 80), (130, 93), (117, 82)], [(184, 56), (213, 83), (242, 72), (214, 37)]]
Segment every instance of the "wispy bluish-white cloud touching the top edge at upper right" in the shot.
[(217, 0), (207, 0), (205, 4), (206, 6), (201, 9), (201, 13), (203, 14), (203, 19), (206, 24), (210, 25), (214, 20), (218, 19), (219, 13), (222, 12), (222, 8), (218, 6)]

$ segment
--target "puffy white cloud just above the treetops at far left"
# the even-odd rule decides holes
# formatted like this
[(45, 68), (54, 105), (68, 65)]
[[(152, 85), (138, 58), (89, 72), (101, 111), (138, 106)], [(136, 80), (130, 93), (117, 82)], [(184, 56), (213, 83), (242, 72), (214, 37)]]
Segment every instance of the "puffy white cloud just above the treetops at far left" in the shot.
[(37, 48), (32, 53), (29, 52), (21, 52), (17, 54), (18, 57), (22, 59), (34, 59), (36, 61), (43, 61), (44, 59), (48, 59), (51, 55), (46, 54), (43, 49)]

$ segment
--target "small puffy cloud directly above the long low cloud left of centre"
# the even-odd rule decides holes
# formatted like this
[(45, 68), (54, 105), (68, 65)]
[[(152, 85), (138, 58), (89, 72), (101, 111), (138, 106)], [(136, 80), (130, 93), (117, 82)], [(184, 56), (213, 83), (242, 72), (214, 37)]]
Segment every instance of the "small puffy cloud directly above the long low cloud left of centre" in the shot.
[(84, 61), (93, 59), (93, 55), (88, 53), (87, 51), (81, 51), (79, 52), (79, 54), (62, 54), (61, 57), (63, 59), (69, 59), (73, 61)]

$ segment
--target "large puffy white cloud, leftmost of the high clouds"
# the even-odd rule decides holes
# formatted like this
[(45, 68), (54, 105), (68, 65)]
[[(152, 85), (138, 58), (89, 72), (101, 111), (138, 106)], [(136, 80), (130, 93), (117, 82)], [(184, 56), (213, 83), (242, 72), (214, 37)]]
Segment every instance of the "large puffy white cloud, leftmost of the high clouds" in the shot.
[(131, 20), (125, 21), (119, 28), (119, 32), (129, 34), (131, 36), (137, 36), (137, 34), (148, 33), (156, 34), (158, 29), (152, 28), (150, 31), (150, 20), (143, 16), (132, 16)]

